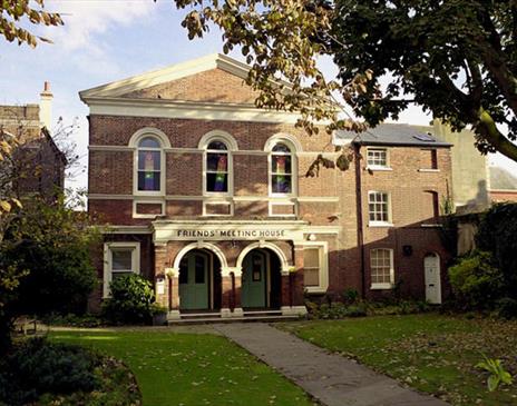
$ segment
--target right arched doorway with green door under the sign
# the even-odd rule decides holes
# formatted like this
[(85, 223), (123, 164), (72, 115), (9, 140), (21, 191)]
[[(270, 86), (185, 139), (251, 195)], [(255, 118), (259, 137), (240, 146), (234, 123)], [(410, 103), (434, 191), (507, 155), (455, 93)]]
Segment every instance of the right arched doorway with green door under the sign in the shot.
[(250, 250), (242, 260), (241, 304), (243, 308), (280, 308), (279, 257), (270, 249)]

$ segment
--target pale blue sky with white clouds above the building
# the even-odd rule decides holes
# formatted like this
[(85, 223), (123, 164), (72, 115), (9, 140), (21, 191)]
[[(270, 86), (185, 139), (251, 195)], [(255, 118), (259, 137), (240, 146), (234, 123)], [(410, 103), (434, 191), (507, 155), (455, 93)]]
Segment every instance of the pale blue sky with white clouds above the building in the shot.
[[(36, 49), (0, 40), (0, 105), (37, 103), (43, 82), (53, 93), (53, 122), (77, 120), (72, 141), (81, 164), (87, 164), (88, 108), (78, 92), (129, 76), (222, 52), (221, 32), (188, 40), (181, 27), (186, 10), (176, 10), (170, 0), (46, 0), (46, 9), (60, 12), (64, 27), (41, 28), (37, 33), (53, 43)], [(238, 53), (231, 55), (242, 59)], [(322, 69), (335, 71), (330, 59)], [(431, 118), (413, 107), (399, 122), (428, 125)], [(517, 164), (503, 156), (490, 157), (491, 165), (514, 174)], [(67, 187), (86, 188), (86, 172), (67, 180)]]

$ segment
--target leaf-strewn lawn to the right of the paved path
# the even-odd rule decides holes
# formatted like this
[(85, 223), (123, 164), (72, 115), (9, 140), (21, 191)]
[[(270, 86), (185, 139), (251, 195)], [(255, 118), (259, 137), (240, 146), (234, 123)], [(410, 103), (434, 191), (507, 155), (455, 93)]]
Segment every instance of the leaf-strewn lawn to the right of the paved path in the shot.
[(436, 314), (283, 324), (283, 329), (341, 353), (452, 405), (517, 405), (517, 383), (497, 393), (475, 365), (500, 358), (517, 378), (517, 323)]

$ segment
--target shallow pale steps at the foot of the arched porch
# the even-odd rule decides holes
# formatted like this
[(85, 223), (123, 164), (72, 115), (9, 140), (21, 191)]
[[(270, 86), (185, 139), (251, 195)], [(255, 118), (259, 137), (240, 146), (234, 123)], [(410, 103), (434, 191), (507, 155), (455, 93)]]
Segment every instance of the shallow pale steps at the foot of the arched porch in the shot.
[(297, 315), (283, 315), (282, 310), (245, 310), (242, 316), (222, 317), (221, 313), (183, 313), (179, 319), (169, 319), (167, 325), (195, 325), (213, 323), (247, 323), (247, 321), (289, 321), (297, 320)]

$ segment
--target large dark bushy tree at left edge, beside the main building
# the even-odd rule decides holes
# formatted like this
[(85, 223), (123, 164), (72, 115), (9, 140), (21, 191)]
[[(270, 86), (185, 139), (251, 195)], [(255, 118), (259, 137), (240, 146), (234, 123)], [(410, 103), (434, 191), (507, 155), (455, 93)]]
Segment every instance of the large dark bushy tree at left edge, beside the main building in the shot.
[[(0, 241), (3, 346), (18, 315), (81, 311), (97, 281), (90, 247), (98, 241), (98, 232), (90, 227), (88, 214), (67, 207), (64, 196), (52, 204), (42, 197), (22, 204), (11, 210)], [(4, 274), (16, 277), (14, 286), (3, 286)]]

